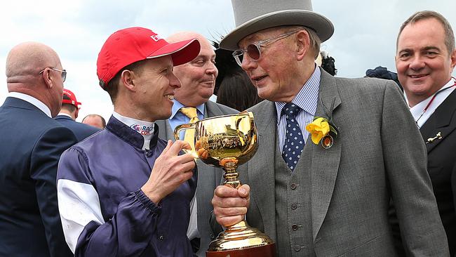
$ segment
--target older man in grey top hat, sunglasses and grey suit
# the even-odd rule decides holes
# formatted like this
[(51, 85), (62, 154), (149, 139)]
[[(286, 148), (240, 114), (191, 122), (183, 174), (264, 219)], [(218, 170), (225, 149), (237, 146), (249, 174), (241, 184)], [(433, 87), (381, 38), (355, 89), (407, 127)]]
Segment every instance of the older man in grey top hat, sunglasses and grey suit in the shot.
[(246, 214), (279, 256), (395, 256), (392, 197), (410, 256), (448, 256), (424, 143), (398, 87), (316, 67), (333, 25), (310, 1), (232, 4), (238, 27), (220, 47), (236, 50), (267, 100), (250, 109), (260, 146), (238, 169), (246, 185), (215, 190), (217, 222)]

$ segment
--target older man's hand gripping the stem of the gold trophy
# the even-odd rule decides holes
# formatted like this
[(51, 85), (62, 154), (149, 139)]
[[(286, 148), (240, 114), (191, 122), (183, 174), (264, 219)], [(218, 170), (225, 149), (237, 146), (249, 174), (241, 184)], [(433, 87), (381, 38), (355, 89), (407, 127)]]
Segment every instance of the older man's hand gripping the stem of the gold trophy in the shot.
[(250, 187), (241, 185), (236, 189), (219, 185), (215, 188), (212, 205), (217, 223), (224, 227), (239, 223), (244, 219), (250, 205)]

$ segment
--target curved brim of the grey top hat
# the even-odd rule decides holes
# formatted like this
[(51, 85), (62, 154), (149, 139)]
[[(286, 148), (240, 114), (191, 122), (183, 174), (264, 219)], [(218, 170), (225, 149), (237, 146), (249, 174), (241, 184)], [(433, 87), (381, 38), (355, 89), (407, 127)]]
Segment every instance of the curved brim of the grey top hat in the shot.
[(333, 23), (328, 18), (305, 10), (285, 10), (266, 13), (236, 27), (220, 41), (220, 48), (239, 49), (238, 43), (244, 37), (263, 29), (279, 26), (301, 25), (314, 29), (321, 41), (328, 40), (334, 33)]

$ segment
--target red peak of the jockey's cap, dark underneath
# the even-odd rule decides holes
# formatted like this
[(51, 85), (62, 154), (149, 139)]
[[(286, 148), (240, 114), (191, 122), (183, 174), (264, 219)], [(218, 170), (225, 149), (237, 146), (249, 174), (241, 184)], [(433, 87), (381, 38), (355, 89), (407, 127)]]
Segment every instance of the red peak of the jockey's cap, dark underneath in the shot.
[(147, 56), (147, 59), (159, 58), (161, 56), (171, 55), (173, 65), (182, 65), (199, 55), (200, 44), (198, 39), (189, 39), (167, 44)]

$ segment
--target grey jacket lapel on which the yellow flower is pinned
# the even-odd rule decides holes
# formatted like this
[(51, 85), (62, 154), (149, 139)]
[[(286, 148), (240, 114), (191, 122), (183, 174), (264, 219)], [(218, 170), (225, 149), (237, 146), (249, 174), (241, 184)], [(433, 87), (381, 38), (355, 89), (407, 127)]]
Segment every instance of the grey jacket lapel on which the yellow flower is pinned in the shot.
[[(335, 79), (326, 72), (321, 72), (316, 116), (328, 118), (330, 113), (326, 114), (325, 107), (331, 112), (330, 107), (333, 105), (333, 120), (335, 120), (334, 122), (337, 126), (337, 107), (340, 103), (341, 100)], [(340, 129), (343, 130), (344, 128)], [(321, 145), (315, 145), (310, 136), (307, 140), (307, 147), (304, 147), (302, 156), (311, 157), (311, 206), (314, 239), (316, 239), (318, 230), (320, 230), (321, 224), (325, 219), (331, 197), (333, 196), (341, 149), (341, 141), (337, 140), (337, 138), (335, 138), (334, 145), (330, 149), (324, 149)]]

